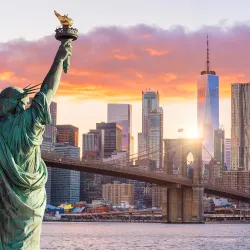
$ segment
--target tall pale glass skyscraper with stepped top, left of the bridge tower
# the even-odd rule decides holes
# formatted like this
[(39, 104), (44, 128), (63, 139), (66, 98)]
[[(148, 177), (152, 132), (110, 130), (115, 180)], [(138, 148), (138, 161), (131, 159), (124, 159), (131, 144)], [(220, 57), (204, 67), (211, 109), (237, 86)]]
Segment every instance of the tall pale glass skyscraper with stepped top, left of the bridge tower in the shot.
[(138, 134), (138, 155), (150, 157), (156, 168), (162, 168), (163, 109), (159, 107), (159, 93), (142, 91), (142, 133)]

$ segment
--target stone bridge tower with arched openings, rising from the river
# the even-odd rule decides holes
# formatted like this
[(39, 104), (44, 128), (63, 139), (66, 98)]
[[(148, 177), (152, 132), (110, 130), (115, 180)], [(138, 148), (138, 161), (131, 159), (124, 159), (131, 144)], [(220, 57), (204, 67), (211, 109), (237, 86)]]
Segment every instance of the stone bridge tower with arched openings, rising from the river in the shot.
[(165, 139), (164, 172), (168, 175), (187, 176), (187, 156), (192, 153), (192, 186), (172, 184), (163, 187), (162, 215), (169, 223), (202, 223), (203, 170), (202, 141), (200, 139)]

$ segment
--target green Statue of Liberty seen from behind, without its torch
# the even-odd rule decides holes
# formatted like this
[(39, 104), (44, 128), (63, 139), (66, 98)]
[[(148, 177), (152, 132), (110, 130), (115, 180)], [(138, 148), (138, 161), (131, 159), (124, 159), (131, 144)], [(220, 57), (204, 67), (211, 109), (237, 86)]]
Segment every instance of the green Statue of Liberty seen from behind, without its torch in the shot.
[(29, 108), (25, 109), (28, 95), (38, 85), (8, 87), (0, 93), (0, 250), (40, 249), (47, 181), (40, 145), (71, 51), (72, 40), (63, 40)]

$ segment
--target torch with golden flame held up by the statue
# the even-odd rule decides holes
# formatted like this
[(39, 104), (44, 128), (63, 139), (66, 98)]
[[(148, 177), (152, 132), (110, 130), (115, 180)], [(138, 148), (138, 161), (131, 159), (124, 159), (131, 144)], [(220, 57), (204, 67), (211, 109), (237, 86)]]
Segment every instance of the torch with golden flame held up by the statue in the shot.
[[(68, 15), (61, 16), (56, 11), (55, 15), (59, 19), (60, 23), (62, 24), (62, 27), (59, 27), (55, 30), (55, 38), (59, 41), (69, 40), (75, 41), (78, 37), (78, 30), (71, 27), (73, 24), (73, 20), (68, 17)], [(63, 62), (63, 70), (65, 73), (68, 72), (70, 66), (70, 57), (68, 56), (67, 59)]]

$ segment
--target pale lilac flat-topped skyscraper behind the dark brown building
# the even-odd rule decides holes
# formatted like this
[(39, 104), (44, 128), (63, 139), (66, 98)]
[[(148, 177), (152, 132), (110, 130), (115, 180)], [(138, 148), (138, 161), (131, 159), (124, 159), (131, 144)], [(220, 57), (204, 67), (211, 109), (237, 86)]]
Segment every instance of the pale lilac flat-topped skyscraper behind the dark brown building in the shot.
[(118, 123), (122, 126), (122, 150), (131, 154), (132, 136), (132, 105), (108, 104), (108, 123)]

